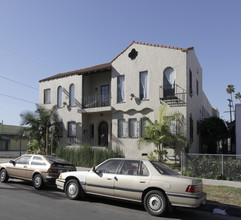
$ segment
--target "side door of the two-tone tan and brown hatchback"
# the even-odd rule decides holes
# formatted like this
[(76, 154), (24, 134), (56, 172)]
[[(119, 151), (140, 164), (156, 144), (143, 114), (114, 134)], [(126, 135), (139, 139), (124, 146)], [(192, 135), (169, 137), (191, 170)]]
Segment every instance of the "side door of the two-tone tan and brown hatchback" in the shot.
[(27, 178), (27, 169), (29, 166), (29, 161), (32, 156), (23, 155), (17, 158), (14, 162), (10, 163), (7, 171), (9, 176), (26, 179)]

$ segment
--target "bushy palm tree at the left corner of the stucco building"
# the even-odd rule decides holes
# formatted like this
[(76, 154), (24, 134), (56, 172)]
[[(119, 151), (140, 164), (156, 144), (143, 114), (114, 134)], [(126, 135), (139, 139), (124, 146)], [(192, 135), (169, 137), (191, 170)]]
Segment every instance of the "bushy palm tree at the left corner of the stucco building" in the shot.
[(21, 125), (26, 126), (22, 134), (31, 140), (37, 150), (49, 154), (49, 129), (59, 122), (57, 106), (47, 109), (37, 104), (36, 107), (35, 112), (26, 111), (20, 114)]

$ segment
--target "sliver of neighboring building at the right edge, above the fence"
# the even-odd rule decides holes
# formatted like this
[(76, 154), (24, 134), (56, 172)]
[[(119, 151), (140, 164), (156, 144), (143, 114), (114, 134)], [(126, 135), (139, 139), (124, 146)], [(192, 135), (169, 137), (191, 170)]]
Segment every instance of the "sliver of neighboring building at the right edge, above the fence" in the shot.
[(241, 104), (235, 105), (236, 154), (241, 155)]

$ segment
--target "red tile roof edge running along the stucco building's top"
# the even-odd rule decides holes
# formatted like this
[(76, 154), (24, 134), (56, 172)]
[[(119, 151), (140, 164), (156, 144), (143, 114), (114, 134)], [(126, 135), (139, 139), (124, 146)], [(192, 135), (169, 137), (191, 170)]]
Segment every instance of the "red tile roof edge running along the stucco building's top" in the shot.
[(87, 68), (83, 68), (83, 69), (79, 69), (79, 70), (69, 71), (69, 72), (65, 72), (65, 73), (59, 73), (54, 76), (50, 76), (48, 78), (42, 79), (39, 82), (44, 82), (44, 81), (48, 81), (48, 80), (53, 80), (53, 79), (58, 79), (58, 78), (63, 78), (63, 77), (68, 77), (68, 76), (73, 76), (73, 75), (83, 75), (83, 74), (88, 74), (88, 73), (92, 73), (92, 72), (102, 72), (102, 71), (111, 70), (111, 68), (112, 68), (111, 63), (114, 60), (116, 60), (121, 54), (123, 54), (133, 44), (169, 48), (169, 49), (174, 49), (174, 50), (182, 50), (183, 52), (194, 49), (194, 47), (180, 48), (180, 47), (171, 47), (171, 46), (164, 46), (164, 45), (159, 45), (159, 44), (149, 44), (149, 43), (132, 41), (132, 43), (130, 45), (128, 45), (121, 53), (119, 53), (109, 63), (99, 64), (99, 65), (95, 65), (95, 66), (91, 66), (91, 67), (87, 67)]

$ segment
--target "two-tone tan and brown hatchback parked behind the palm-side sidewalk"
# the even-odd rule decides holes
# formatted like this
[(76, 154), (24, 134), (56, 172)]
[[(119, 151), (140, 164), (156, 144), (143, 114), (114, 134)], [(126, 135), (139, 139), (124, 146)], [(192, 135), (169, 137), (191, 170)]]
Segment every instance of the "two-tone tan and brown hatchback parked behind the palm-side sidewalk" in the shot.
[(76, 167), (58, 157), (25, 154), (8, 163), (0, 164), (0, 180), (29, 180), (33, 182), (34, 188), (41, 189), (44, 184), (55, 184), (59, 174), (66, 171), (76, 171)]

